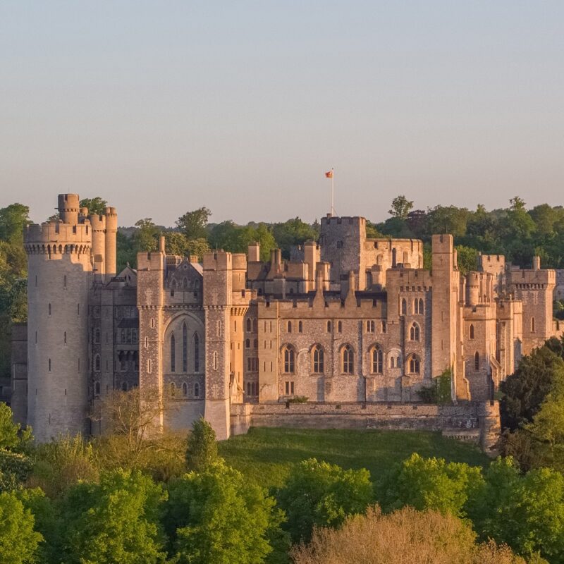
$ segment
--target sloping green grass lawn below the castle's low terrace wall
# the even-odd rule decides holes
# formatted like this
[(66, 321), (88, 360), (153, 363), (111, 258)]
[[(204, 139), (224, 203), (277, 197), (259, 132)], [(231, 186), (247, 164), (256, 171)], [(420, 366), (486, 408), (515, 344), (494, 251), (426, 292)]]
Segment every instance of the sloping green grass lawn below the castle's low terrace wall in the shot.
[(281, 486), (290, 468), (305, 458), (367, 468), (376, 481), (411, 453), (475, 466), (489, 460), (476, 446), (429, 431), (252, 428), (219, 443), (219, 454), (229, 465), (266, 488)]

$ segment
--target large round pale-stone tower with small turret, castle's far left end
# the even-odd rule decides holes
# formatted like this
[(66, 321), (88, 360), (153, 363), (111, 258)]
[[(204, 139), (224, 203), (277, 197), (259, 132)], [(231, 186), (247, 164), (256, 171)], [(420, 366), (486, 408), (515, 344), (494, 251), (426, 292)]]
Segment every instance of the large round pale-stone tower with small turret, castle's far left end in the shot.
[(78, 195), (59, 195), (59, 214), (68, 221), (25, 231), (27, 422), (39, 442), (87, 431), (92, 230), (78, 223)]

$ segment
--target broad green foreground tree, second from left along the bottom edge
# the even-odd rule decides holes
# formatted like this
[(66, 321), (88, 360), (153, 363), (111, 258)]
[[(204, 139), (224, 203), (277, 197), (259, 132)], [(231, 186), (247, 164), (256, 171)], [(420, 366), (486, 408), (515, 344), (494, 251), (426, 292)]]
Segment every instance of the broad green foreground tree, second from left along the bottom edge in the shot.
[(99, 484), (76, 484), (63, 500), (66, 564), (164, 563), (160, 519), (166, 491), (140, 472), (116, 470)]

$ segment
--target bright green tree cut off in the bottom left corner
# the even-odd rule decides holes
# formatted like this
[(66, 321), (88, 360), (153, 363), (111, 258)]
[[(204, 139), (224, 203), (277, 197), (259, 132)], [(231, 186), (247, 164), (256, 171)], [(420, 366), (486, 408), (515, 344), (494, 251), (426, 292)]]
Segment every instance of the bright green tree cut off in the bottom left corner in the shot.
[(14, 492), (0, 494), (0, 562), (32, 564), (37, 562), (37, 548), (43, 537), (34, 529), (30, 510)]

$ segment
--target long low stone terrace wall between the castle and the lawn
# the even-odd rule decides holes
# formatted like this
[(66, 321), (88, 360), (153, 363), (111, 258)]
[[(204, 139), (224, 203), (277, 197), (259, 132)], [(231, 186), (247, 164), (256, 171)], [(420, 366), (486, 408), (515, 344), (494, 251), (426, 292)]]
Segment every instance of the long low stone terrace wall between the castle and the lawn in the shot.
[(231, 433), (250, 427), (301, 429), (412, 429), (443, 431), (473, 440), (489, 454), (499, 436), (497, 402), (460, 405), (414, 403), (243, 403), (231, 405)]

